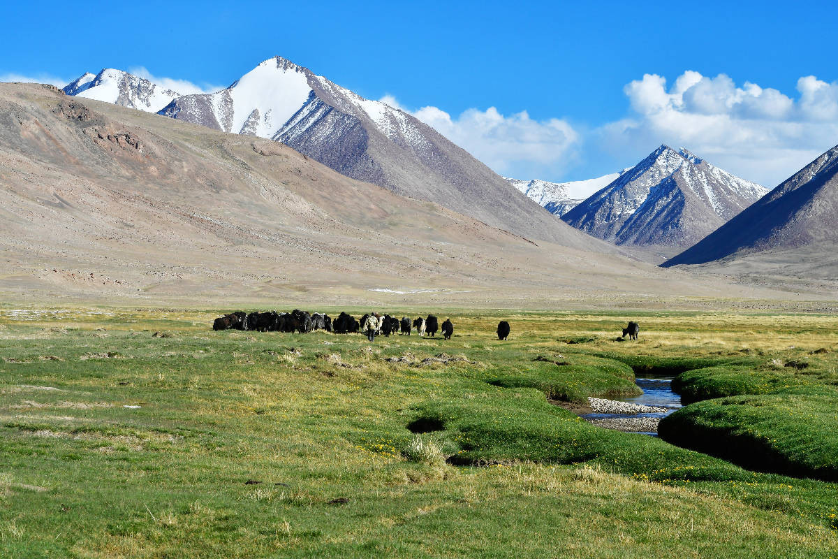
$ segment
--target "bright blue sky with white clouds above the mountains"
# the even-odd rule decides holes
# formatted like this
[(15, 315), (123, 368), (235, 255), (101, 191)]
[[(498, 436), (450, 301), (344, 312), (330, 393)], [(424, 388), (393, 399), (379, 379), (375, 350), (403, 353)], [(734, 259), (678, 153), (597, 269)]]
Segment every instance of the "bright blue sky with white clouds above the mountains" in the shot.
[(838, 143), (835, 3), (40, 2), (3, 11), (0, 80), (113, 67), (213, 89), (280, 54), (414, 112), (520, 178), (587, 179), (665, 142), (774, 186)]

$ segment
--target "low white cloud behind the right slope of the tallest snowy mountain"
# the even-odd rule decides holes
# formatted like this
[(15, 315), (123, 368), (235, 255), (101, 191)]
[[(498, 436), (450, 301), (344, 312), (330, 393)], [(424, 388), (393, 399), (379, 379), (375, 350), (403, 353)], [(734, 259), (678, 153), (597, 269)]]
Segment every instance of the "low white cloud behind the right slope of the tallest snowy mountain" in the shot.
[(436, 106), (408, 111), (391, 95), (380, 101), (416, 116), (500, 174), (531, 179), (561, 173), (575, 157), (580, 141), (568, 122), (559, 118), (536, 121), (527, 111), (505, 116), (490, 106), (451, 116)]

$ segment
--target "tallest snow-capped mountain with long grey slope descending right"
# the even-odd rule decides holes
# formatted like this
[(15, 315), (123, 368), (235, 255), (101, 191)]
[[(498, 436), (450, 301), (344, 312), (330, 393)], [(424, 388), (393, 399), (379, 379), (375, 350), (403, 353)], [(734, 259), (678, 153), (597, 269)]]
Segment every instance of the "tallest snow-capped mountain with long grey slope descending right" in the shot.
[[(80, 78), (75, 89), (85, 87), (85, 80)], [(96, 98), (113, 102), (112, 89)], [(432, 127), (278, 56), (225, 90), (176, 96), (159, 113), (222, 132), (272, 138), (347, 177), (441, 204), (515, 235), (584, 250), (612, 250), (556, 223), (546, 210)]]

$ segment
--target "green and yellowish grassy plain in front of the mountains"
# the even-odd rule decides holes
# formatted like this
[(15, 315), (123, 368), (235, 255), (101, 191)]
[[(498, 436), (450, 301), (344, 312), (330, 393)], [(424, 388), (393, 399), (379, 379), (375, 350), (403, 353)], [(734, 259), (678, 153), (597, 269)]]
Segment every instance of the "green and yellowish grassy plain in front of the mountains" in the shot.
[[(447, 342), (370, 344), (213, 332), (217, 315), (0, 308), (0, 556), (838, 556), (835, 484), (546, 398), (716, 367), (697, 400), (779, 397), (763, 384), (828, 399), (833, 316), (483, 310), (451, 315)], [(637, 343), (616, 340), (629, 318)], [(824, 425), (813, 446), (834, 448)]]

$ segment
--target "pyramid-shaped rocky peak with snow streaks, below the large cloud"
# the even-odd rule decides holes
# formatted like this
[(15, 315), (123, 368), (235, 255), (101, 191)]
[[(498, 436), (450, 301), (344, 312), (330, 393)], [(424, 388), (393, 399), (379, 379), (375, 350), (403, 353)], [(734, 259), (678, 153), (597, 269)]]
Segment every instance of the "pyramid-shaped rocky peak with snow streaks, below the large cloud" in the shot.
[(685, 149), (660, 146), (561, 219), (617, 245), (682, 250), (765, 192)]

